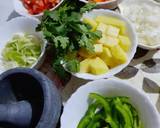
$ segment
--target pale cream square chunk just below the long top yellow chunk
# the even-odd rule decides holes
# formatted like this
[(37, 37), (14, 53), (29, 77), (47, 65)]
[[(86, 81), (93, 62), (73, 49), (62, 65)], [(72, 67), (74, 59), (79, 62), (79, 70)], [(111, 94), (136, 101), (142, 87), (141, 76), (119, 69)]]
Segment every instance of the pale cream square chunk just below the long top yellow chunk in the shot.
[(106, 34), (109, 36), (118, 37), (119, 32), (120, 32), (119, 28), (110, 25), (108, 27)]

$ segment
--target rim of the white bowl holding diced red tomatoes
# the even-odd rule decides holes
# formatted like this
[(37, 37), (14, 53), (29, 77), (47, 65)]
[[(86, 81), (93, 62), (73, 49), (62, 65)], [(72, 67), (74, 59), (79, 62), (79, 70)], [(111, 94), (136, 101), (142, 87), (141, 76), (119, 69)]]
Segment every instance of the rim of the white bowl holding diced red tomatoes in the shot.
[[(25, 13), (24, 13), (24, 11), (19, 11), (19, 10), (16, 8), (18, 2), (20, 2), (19, 4), (22, 5), (22, 9), (23, 9), (23, 10), (26, 10)], [(54, 6), (53, 8), (51, 8), (51, 9), (49, 9), (49, 10), (50, 10), (50, 11), (55, 10), (55, 9), (58, 8), (63, 2), (64, 2), (64, 0), (60, 0), (60, 2), (59, 2), (56, 6)], [(35, 14), (35, 15), (29, 14), (29, 13), (28, 13), (28, 10), (24, 7), (23, 3), (22, 3), (20, 0), (13, 0), (13, 6), (14, 6), (14, 10), (15, 10), (18, 14), (20, 14), (20, 15), (22, 15), (22, 16), (39, 18), (39, 17), (43, 16), (43, 14), (44, 14), (44, 11), (41, 12), (41, 13), (39, 13), (39, 14)]]

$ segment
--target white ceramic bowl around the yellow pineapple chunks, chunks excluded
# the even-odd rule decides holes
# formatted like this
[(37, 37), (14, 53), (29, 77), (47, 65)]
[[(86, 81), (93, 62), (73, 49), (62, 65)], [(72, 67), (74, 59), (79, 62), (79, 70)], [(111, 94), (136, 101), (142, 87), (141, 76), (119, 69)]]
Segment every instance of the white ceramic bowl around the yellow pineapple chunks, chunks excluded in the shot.
[(128, 55), (127, 62), (122, 65), (116, 66), (113, 69), (110, 69), (109, 72), (107, 72), (106, 74), (92, 75), (92, 74), (88, 74), (88, 73), (73, 73), (74, 76), (82, 78), (82, 79), (95, 80), (95, 79), (112, 77), (115, 74), (119, 73), (122, 69), (124, 69), (130, 63), (130, 61), (134, 57), (134, 54), (136, 53), (138, 41), (137, 41), (137, 36), (136, 36), (135, 30), (133, 29), (131, 23), (126, 18), (121, 16), (120, 14), (118, 14), (114, 11), (104, 10), (104, 9), (95, 9), (89, 13), (85, 13), (83, 17), (94, 18), (99, 15), (115, 17), (115, 18), (118, 18), (126, 23), (127, 34), (128, 34), (128, 37), (130, 38), (131, 43), (132, 43), (131, 49), (129, 50), (129, 52), (127, 54)]

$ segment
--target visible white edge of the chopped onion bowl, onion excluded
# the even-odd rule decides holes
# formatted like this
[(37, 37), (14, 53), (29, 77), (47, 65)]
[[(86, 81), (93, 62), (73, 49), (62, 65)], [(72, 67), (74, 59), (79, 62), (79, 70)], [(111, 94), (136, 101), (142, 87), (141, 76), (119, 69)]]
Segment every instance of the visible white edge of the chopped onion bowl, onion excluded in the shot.
[[(119, 5), (119, 9), (120, 12), (123, 16), (125, 16), (125, 10), (126, 7), (128, 8), (129, 5), (132, 5), (132, 3), (134, 4), (135, 2), (138, 3), (140, 6), (142, 3), (146, 3), (150, 6), (154, 7), (159, 7), (160, 8), (160, 3), (156, 2), (158, 0), (125, 0), (123, 1), (120, 5)], [(152, 31), (151, 31), (152, 33)], [(147, 49), (147, 50), (155, 50), (155, 49), (159, 49), (160, 48), (160, 43), (156, 44), (156, 45), (147, 45), (147, 44), (143, 44), (141, 42), (138, 42), (138, 46), (143, 48), (143, 49)]]

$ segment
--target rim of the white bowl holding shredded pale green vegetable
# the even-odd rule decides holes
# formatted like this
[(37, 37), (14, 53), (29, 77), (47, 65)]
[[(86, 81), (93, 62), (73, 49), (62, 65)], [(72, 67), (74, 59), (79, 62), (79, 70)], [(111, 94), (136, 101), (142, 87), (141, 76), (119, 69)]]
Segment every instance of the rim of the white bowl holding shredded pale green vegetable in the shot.
[[(37, 19), (37, 18), (19, 16), (19, 17), (16, 17), (16, 18), (13, 18), (13, 19), (7, 21), (7, 22), (4, 24), (4, 26), (7, 26), (8, 24), (11, 24), (11, 23), (17, 22), (17, 21), (21, 21), (21, 20), (32, 20), (32, 21), (37, 22), (37, 24), (40, 23), (40, 20)], [(44, 38), (44, 36), (43, 36), (43, 34), (42, 34), (41, 32), (36, 32), (36, 31), (35, 31), (35, 33), (39, 33), (39, 34), (42, 36), (42, 38), (40, 38), (40, 40), (41, 40), (41, 54), (40, 54), (39, 57), (37, 58), (37, 61), (36, 61), (34, 64), (32, 64), (29, 68), (36, 68), (36, 66), (38, 65), (39, 61), (42, 60), (42, 58), (43, 58), (43, 56), (44, 56), (44, 54), (45, 54), (45, 51), (46, 51), (47, 44), (48, 44), (47, 40)], [(27, 68), (27, 67), (26, 67), (26, 68)], [(3, 73), (3, 72), (2, 72), (2, 73)]]

